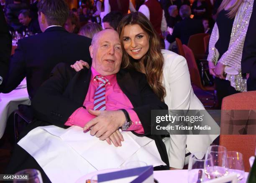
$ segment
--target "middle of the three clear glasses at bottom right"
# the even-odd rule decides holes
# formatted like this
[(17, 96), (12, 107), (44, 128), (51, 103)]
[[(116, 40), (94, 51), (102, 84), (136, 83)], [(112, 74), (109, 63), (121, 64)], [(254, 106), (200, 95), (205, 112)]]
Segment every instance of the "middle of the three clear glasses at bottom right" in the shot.
[(207, 178), (214, 179), (228, 175), (227, 149), (221, 145), (212, 145), (207, 149), (206, 157), (208, 155), (212, 156), (213, 166), (206, 166)]

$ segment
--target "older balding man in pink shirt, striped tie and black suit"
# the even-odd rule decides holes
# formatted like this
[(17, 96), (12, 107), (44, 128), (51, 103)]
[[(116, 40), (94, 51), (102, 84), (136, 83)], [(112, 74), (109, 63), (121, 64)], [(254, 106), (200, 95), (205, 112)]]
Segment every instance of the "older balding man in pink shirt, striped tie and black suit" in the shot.
[[(59, 64), (32, 100), (37, 126), (56, 125), (65, 128), (78, 125), (100, 140), (110, 140), (120, 146), (118, 128), (153, 138), (162, 160), (168, 166), (166, 148), (160, 135), (151, 134), (151, 110), (167, 109), (149, 87), (145, 75), (120, 69), (122, 49), (115, 30), (97, 33), (90, 46), (92, 67), (74, 71)], [(41, 120), (41, 121), (40, 121)], [(23, 136), (26, 133), (23, 133)], [(25, 168), (39, 168), (35, 160), (18, 145), (7, 173)], [(20, 160), (20, 157), (26, 159)], [(20, 162), (25, 162), (20, 163)], [(29, 162), (29, 163), (26, 163)], [(37, 166), (36, 166), (37, 165)], [(43, 172), (44, 179), (47, 180)]]

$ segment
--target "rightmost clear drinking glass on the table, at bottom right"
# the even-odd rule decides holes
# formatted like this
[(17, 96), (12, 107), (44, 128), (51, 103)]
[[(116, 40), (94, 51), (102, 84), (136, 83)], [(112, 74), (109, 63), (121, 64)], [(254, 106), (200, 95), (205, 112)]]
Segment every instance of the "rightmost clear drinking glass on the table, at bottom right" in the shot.
[(228, 151), (228, 172), (236, 173), (238, 181), (244, 178), (243, 155), (236, 151)]

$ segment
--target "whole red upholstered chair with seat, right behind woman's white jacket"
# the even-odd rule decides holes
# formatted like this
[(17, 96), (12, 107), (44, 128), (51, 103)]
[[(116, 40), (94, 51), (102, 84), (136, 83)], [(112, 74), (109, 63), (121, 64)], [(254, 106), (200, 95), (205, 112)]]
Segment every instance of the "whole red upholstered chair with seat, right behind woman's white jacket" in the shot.
[[(197, 67), (197, 63), (195, 60), (195, 56), (190, 48), (188, 48), (186, 45), (182, 45), (183, 50), (185, 53), (185, 58), (187, 60), (187, 65), (189, 68), (189, 74), (190, 74), (190, 79), (193, 84), (195, 84), (197, 87), (201, 88), (202, 90), (206, 92), (210, 92), (209, 94), (213, 96), (214, 100), (214, 105), (216, 103), (216, 98), (214, 94), (215, 86), (203, 86), (201, 82), (201, 77), (200, 77), (200, 72)], [(208, 99), (202, 99), (201, 100), (208, 100)], [(213, 106), (214, 106), (213, 105)], [(205, 106), (205, 107), (213, 107), (213, 106)]]

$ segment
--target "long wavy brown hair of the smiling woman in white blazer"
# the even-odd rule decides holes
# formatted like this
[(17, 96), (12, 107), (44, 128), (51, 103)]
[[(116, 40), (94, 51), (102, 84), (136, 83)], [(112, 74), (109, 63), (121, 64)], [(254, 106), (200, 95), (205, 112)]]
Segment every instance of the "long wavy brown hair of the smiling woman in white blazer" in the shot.
[[(137, 62), (125, 52), (123, 47), (123, 30), (126, 25), (139, 25), (147, 34), (149, 38), (148, 52)], [(140, 12), (130, 13), (126, 15), (118, 26), (118, 33), (123, 48), (123, 68), (134, 68), (141, 73), (146, 73), (148, 84), (156, 93), (156, 95), (163, 101), (166, 95), (165, 89), (162, 85), (163, 80), (163, 66), (164, 58), (161, 54), (159, 36), (155, 32), (152, 24)]]

